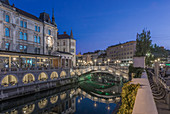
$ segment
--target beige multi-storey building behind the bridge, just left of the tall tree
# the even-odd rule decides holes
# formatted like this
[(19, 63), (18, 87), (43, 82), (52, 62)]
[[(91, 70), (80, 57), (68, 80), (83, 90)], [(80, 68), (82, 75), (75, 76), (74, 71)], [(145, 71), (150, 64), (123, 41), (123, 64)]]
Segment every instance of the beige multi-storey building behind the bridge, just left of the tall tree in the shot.
[(129, 41), (108, 47), (106, 53), (110, 63), (115, 64), (116, 61), (120, 61), (121, 64), (128, 65), (133, 62), (135, 51), (136, 41)]

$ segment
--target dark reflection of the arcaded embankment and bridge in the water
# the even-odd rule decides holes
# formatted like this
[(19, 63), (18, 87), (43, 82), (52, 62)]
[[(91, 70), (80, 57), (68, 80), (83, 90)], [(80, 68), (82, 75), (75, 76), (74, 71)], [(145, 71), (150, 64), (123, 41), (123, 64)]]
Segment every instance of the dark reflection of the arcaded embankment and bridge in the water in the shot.
[(11, 99), (0, 103), (0, 113), (4, 114), (70, 114), (76, 112), (76, 98), (78, 103), (82, 98), (88, 98), (94, 101), (94, 107), (98, 103), (109, 104), (119, 102), (120, 97), (104, 98), (96, 97), (76, 85), (68, 85), (58, 89), (48, 90), (34, 95)]

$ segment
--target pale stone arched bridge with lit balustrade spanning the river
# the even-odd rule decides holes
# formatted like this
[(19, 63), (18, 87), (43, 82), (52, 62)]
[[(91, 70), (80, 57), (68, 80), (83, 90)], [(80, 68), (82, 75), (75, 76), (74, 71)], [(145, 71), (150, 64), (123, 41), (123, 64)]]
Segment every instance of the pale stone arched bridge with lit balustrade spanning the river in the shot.
[(129, 79), (128, 67), (121, 67), (121, 66), (86, 66), (86, 67), (79, 67), (76, 69), (71, 70), (71, 75), (81, 76), (85, 73), (109, 73), (115, 76), (122, 76), (126, 79)]

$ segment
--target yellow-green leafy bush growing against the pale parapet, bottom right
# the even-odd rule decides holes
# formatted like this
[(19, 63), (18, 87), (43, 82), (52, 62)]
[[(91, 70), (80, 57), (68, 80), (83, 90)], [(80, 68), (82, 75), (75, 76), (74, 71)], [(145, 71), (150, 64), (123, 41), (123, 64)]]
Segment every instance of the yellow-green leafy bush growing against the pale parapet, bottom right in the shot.
[(122, 87), (122, 105), (119, 109), (118, 114), (132, 114), (133, 107), (135, 104), (136, 94), (139, 84), (130, 84), (130, 82), (124, 84)]

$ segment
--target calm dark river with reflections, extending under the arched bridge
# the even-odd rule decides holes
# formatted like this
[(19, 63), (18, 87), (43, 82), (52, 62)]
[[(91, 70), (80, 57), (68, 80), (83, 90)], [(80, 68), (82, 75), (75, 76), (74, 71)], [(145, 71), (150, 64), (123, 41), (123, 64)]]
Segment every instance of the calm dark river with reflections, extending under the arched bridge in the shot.
[(123, 78), (88, 73), (79, 82), (0, 102), (0, 114), (111, 114), (120, 102)]

